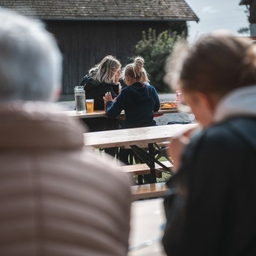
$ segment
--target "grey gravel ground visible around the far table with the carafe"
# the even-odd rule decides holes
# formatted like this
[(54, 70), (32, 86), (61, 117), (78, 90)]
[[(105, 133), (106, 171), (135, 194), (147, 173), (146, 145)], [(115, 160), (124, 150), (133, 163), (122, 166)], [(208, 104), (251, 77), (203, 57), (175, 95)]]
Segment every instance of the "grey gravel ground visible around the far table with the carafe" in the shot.
[[(159, 99), (160, 101), (174, 101), (175, 94), (174, 93), (159, 94)], [(58, 105), (60, 105), (63, 110), (75, 109), (75, 101), (59, 101)], [(161, 117), (156, 117), (155, 120), (157, 125), (165, 125), (170, 121), (190, 122), (189, 115), (186, 113), (164, 114)]]

